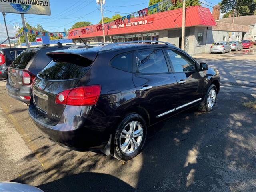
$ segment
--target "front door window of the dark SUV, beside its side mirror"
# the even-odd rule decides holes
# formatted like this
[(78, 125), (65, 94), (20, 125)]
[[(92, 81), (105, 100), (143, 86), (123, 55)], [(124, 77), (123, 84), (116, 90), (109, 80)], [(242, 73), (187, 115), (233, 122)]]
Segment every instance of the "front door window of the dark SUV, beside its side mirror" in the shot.
[(186, 72), (196, 70), (193, 60), (176, 50), (166, 50), (174, 67), (174, 72)]

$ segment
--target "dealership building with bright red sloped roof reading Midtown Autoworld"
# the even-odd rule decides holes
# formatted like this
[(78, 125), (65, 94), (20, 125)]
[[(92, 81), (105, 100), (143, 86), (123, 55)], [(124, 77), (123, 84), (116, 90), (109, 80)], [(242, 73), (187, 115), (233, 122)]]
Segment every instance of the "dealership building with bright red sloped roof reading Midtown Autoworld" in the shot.
[[(238, 24), (224, 24), (218, 21), (219, 9), (213, 8), (213, 14), (208, 8), (191, 6), (186, 8), (185, 50), (189, 54), (209, 52), (210, 45), (218, 40), (238, 40), (246, 38), (248, 26)], [(71, 29), (84, 30), (97, 25)], [(159, 40), (170, 42), (181, 48), (182, 9), (150, 14), (146, 17), (130, 18), (124, 24), (112, 24), (104, 30), (106, 42), (126, 42), (137, 40)], [(224, 35), (223, 35), (224, 34)], [(225, 36), (225, 38), (223, 38)], [(102, 30), (80, 35), (90, 44), (103, 42)], [(68, 36), (74, 43), (82, 41), (78, 35)]]

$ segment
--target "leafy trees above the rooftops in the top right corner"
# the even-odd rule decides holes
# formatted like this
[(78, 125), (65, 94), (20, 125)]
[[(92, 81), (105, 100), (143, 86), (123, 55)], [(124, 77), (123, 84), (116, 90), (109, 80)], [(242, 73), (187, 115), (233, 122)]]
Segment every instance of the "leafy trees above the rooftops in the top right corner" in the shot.
[(222, 13), (233, 12), (236, 9), (235, 16), (252, 15), (256, 10), (256, 0), (222, 0), (220, 6)]

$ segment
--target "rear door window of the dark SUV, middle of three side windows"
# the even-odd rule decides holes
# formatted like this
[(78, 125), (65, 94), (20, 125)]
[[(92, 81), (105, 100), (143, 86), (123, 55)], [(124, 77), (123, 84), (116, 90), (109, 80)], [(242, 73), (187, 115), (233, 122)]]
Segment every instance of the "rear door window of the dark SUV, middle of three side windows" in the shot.
[(162, 50), (136, 52), (136, 70), (139, 73), (168, 73), (168, 67)]

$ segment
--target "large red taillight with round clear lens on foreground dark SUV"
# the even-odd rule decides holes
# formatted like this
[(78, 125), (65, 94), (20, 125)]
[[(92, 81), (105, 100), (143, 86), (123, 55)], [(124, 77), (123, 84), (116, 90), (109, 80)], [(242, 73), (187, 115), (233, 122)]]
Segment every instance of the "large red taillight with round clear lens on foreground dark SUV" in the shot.
[(65, 105), (95, 105), (100, 96), (100, 85), (83, 86), (60, 92), (55, 102)]

